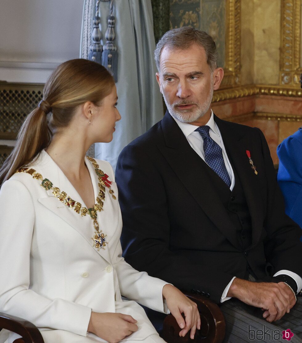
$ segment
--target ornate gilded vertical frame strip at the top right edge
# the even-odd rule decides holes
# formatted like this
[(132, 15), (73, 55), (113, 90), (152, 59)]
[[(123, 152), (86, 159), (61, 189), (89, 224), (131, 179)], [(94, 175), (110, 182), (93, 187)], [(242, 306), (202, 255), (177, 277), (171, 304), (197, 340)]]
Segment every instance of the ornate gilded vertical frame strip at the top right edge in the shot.
[(280, 85), (299, 83), (301, 61), (301, 0), (281, 0)]

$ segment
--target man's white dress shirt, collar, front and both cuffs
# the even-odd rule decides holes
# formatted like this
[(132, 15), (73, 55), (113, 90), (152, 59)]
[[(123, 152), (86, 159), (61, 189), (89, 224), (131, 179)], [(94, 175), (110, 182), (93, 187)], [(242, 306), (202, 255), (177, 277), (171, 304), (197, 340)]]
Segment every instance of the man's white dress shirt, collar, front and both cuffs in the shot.
[[(171, 116), (171, 117), (176, 121), (177, 125), (181, 129), (182, 133), (186, 137), (189, 144), (191, 145), (192, 149), (203, 159), (203, 161), (205, 161), (204, 150), (203, 150), (203, 139), (201, 137), (201, 134), (198, 131), (195, 131), (195, 129), (197, 129), (197, 126), (191, 125), (188, 123), (183, 123), (180, 120), (176, 119), (175, 117), (173, 117), (173, 116)], [(221, 137), (221, 133), (219, 131), (217, 124), (214, 121), (214, 114), (213, 114), (212, 110), (211, 110), (211, 117), (205, 125), (210, 127), (210, 130), (209, 130), (210, 137), (222, 149), (224, 164), (225, 164), (227, 173), (230, 176), (230, 180), (231, 180), (230, 190), (232, 191), (234, 186), (235, 186), (234, 171), (232, 169), (230, 160), (227, 157), (226, 150), (225, 150), (223, 140)], [(279, 272), (275, 273), (273, 276), (278, 276), (281, 274), (288, 275), (288, 276), (292, 277), (292, 279), (294, 279), (295, 282), (297, 283), (298, 292), (301, 291), (301, 289), (302, 289), (302, 278), (298, 274), (293, 273), (289, 270), (280, 270)], [(227, 297), (226, 295), (227, 295), (227, 292), (228, 292), (229, 288), (231, 287), (231, 284), (232, 284), (233, 280), (235, 279), (235, 277), (236, 276), (234, 276), (233, 279), (230, 281), (230, 283), (228, 283), (228, 285), (225, 287), (225, 289), (222, 293), (221, 299), (220, 299), (221, 303), (223, 303), (224, 301), (226, 301), (228, 299), (231, 299), (231, 297)]]

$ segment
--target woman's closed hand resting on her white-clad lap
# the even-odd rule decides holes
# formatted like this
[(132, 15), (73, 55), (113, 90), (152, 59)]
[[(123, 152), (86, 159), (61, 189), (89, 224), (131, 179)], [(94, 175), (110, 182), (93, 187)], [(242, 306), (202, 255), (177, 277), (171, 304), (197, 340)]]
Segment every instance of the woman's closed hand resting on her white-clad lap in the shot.
[(121, 313), (91, 312), (88, 331), (109, 343), (117, 343), (138, 330), (137, 321)]

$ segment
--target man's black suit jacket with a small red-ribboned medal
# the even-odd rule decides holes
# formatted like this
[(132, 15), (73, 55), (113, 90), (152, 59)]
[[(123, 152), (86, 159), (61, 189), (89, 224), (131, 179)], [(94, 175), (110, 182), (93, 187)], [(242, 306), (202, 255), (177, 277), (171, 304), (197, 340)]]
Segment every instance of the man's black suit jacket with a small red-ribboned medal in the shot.
[(248, 249), (238, 245), (232, 222), (205, 172), (208, 166), (169, 113), (124, 148), (116, 182), (126, 261), (220, 303), (232, 277), (246, 277), (249, 266), (261, 280), (282, 269), (302, 275), (302, 246), (300, 228), (284, 213), (262, 132), (216, 116), (214, 120), (246, 196), (252, 219)]

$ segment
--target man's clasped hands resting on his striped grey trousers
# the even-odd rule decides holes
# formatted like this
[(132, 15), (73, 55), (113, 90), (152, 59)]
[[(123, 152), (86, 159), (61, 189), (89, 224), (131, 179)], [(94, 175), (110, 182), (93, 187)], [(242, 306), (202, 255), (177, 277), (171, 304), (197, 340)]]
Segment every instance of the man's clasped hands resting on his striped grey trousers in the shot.
[(251, 282), (237, 277), (232, 282), (227, 296), (235, 297), (243, 303), (262, 308), (263, 317), (268, 322), (279, 320), (295, 304), (291, 289), (284, 283)]

